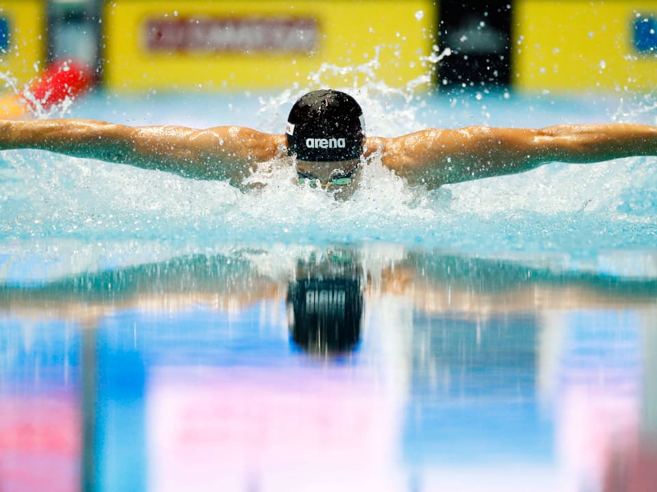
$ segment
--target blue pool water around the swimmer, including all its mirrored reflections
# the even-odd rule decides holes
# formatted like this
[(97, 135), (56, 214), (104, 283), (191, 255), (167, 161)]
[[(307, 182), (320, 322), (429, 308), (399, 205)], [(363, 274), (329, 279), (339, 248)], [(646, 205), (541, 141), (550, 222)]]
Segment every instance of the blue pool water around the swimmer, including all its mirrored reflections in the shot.
[[(280, 132), (302, 92), (68, 116)], [(657, 124), (650, 95), (350, 92), (372, 135)], [(427, 191), (372, 159), (336, 200), (285, 163), (245, 191), (2, 153), (0, 490), (649, 490), (655, 164)]]

